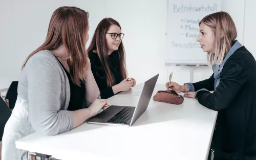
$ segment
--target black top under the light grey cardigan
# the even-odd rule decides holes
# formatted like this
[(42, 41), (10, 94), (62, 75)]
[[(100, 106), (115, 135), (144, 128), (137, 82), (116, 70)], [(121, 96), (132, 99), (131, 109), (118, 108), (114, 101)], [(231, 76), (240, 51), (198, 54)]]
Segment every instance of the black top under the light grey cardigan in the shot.
[(86, 98), (86, 87), (84, 86), (84, 83), (82, 80), (80, 80), (80, 87), (73, 83), (71, 76), (69, 72), (65, 69), (65, 67), (62, 65), (61, 62), (59, 62), (63, 69), (65, 70), (68, 79), (69, 79), (69, 85), (70, 85), (70, 101), (68, 110), (78, 110), (83, 107), (83, 101)]

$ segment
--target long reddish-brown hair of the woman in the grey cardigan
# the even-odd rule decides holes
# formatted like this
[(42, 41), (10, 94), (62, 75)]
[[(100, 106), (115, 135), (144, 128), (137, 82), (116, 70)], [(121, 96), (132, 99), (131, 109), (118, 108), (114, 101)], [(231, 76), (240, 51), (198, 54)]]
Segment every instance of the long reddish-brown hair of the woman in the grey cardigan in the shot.
[(77, 7), (59, 7), (51, 17), (47, 37), (44, 43), (32, 52), (25, 60), (22, 69), (28, 60), (41, 50), (54, 50), (61, 44), (68, 51), (67, 60), (72, 81), (80, 86), (81, 75), (87, 70), (88, 54), (86, 52), (86, 32), (89, 13)]

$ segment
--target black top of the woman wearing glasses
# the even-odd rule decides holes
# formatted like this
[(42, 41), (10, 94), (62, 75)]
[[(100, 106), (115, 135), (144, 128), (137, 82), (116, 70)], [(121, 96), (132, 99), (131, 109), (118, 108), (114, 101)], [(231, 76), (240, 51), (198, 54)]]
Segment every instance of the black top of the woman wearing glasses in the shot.
[[(107, 99), (114, 96), (112, 86), (108, 87), (107, 85), (106, 75), (105, 75), (105, 72), (103, 71), (98, 54), (94, 53), (93, 51), (89, 52), (88, 54), (89, 54), (89, 59), (91, 61), (91, 69), (93, 72), (93, 76), (100, 90), (100, 97), (102, 99)], [(110, 64), (110, 71), (115, 78), (114, 85), (121, 82), (121, 71), (120, 71), (120, 64), (119, 64), (120, 62), (119, 62), (119, 59), (117, 59), (118, 56), (116, 56), (116, 54), (118, 53), (114, 51), (109, 56), (109, 62), (108, 62)]]

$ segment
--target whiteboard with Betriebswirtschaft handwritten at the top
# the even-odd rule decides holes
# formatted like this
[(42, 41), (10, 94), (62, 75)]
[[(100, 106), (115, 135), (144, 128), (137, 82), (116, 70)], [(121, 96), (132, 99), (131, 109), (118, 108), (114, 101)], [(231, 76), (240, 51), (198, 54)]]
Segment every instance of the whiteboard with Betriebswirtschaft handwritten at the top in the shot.
[(221, 0), (168, 0), (165, 62), (207, 63), (207, 53), (200, 48), (200, 20), (221, 10)]

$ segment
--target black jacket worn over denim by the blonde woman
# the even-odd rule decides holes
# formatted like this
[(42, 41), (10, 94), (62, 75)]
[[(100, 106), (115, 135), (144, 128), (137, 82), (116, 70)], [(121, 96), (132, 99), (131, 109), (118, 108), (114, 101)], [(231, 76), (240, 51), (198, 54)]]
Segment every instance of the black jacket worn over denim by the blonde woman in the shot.
[[(193, 84), (195, 91), (214, 90), (215, 79)], [(226, 61), (214, 93), (197, 93), (200, 104), (217, 110), (211, 147), (214, 159), (256, 159), (256, 61), (243, 46)]]

